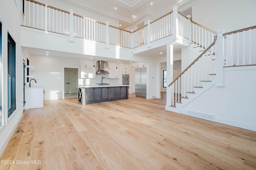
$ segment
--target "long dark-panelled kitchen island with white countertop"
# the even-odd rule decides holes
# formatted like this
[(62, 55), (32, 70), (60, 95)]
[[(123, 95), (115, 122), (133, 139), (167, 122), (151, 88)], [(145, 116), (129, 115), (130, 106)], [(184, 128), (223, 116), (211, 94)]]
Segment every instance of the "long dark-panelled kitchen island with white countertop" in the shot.
[(78, 103), (92, 104), (128, 99), (129, 85), (83, 85), (78, 86)]

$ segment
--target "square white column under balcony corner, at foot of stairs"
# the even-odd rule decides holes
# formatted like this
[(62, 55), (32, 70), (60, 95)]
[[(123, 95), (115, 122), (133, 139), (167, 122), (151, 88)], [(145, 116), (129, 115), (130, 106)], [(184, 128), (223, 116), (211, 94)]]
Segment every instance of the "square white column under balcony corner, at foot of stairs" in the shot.
[(172, 89), (171, 87), (168, 87), (168, 85), (173, 80), (173, 45), (168, 44), (166, 48), (166, 57), (167, 57), (167, 63), (166, 63), (166, 81), (167, 81), (167, 88), (166, 88), (166, 107), (169, 107), (172, 105), (171, 96), (172, 96)]

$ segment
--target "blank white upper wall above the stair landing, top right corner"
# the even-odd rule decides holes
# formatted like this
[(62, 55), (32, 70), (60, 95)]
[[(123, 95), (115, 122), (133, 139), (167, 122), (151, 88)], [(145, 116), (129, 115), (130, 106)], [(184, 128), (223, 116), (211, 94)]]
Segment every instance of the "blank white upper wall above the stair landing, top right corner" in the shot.
[(256, 0), (198, 0), (192, 20), (214, 31), (235, 31), (256, 25)]

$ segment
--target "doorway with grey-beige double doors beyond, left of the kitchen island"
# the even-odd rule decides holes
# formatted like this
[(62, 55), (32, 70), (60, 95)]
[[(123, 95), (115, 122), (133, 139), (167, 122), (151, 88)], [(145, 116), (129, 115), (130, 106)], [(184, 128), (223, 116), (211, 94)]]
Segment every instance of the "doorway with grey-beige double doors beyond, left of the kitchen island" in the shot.
[(64, 68), (64, 98), (77, 98), (78, 68)]

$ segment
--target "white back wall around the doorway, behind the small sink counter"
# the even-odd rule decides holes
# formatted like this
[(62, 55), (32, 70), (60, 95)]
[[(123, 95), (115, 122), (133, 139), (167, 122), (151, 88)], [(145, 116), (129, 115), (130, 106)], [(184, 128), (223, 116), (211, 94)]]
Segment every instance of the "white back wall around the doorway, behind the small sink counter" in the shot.
[[(45, 100), (64, 98), (64, 68), (79, 68), (80, 59), (62, 57), (30, 56), (30, 63), (34, 66), (33, 76), (37, 81), (34, 86), (43, 86)], [(79, 74), (78, 74), (79, 75)]]

